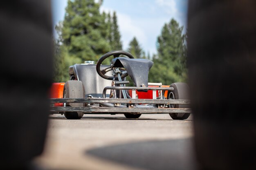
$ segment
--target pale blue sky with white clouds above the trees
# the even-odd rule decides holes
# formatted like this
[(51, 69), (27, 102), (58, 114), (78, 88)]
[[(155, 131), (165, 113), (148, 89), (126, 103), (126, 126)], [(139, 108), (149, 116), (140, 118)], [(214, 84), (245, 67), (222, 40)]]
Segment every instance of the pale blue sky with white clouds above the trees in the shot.
[[(67, 0), (52, 0), (53, 27), (64, 19), (66, 6)], [(146, 54), (157, 53), (157, 36), (171, 18), (186, 31), (187, 0), (103, 0), (100, 11), (116, 11), (124, 50), (136, 37)]]

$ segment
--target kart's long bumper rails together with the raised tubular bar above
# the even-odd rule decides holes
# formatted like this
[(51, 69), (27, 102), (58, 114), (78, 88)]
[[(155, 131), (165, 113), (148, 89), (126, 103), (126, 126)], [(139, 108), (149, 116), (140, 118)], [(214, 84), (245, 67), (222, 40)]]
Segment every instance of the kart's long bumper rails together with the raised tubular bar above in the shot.
[[(105, 98), (106, 90), (132, 90), (132, 99)], [(136, 90), (152, 90), (153, 99), (136, 99)], [(190, 108), (168, 108), (169, 104), (190, 104), (190, 100), (156, 99), (156, 91), (173, 91), (173, 88), (164, 87), (121, 87), (108, 86), (103, 90), (103, 98), (58, 98), (50, 99), (53, 103), (85, 103), (87, 107), (51, 107), (52, 112), (85, 112), (90, 114), (166, 114), (166, 113), (191, 113)], [(100, 107), (99, 104), (115, 103), (127, 104), (127, 107)], [(98, 105), (94, 105), (98, 104)], [(138, 104), (155, 104), (155, 107), (139, 107)]]

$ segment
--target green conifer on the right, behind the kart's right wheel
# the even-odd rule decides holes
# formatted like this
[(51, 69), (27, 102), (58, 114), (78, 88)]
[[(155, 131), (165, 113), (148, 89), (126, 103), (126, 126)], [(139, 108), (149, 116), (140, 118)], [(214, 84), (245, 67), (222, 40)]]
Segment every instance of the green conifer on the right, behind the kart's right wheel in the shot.
[(171, 84), (186, 81), (186, 44), (182, 31), (183, 26), (174, 19), (164, 24), (157, 38), (157, 55), (153, 56), (150, 82)]

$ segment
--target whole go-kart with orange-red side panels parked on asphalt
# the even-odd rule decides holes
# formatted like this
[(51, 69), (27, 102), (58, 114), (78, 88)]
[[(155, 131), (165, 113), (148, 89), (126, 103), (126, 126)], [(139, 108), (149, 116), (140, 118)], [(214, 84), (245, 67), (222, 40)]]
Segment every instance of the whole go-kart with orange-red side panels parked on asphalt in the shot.
[[(102, 65), (111, 56), (110, 65)], [(51, 111), (67, 119), (81, 119), (84, 113), (124, 114), (126, 118), (168, 113), (173, 119), (187, 119), (191, 113), (189, 86), (148, 82), (152, 66), (152, 61), (135, 59), (120, 50), (106, 53), (97, 64), (74, 64), (69, 68), (69, 81), (53, 84)], [(128, 75), (134, 86), (126, 86)]]

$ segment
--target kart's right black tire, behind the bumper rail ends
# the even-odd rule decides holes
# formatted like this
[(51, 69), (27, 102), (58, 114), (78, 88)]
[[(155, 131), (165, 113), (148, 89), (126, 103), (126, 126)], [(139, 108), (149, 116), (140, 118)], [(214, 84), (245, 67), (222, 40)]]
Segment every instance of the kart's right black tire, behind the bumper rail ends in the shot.
[[(189, 99), (189, 86), (186, 83), (173, 83), (170, 87), (173, 87), (173, 91), (168, 91), (168, 99)], [(189, 108), (186, 104), (173, 104), (169, 105), (170, 108)], [(184, 120), (187, 119), (190, 113), (169, 113), (171, 118)]]

